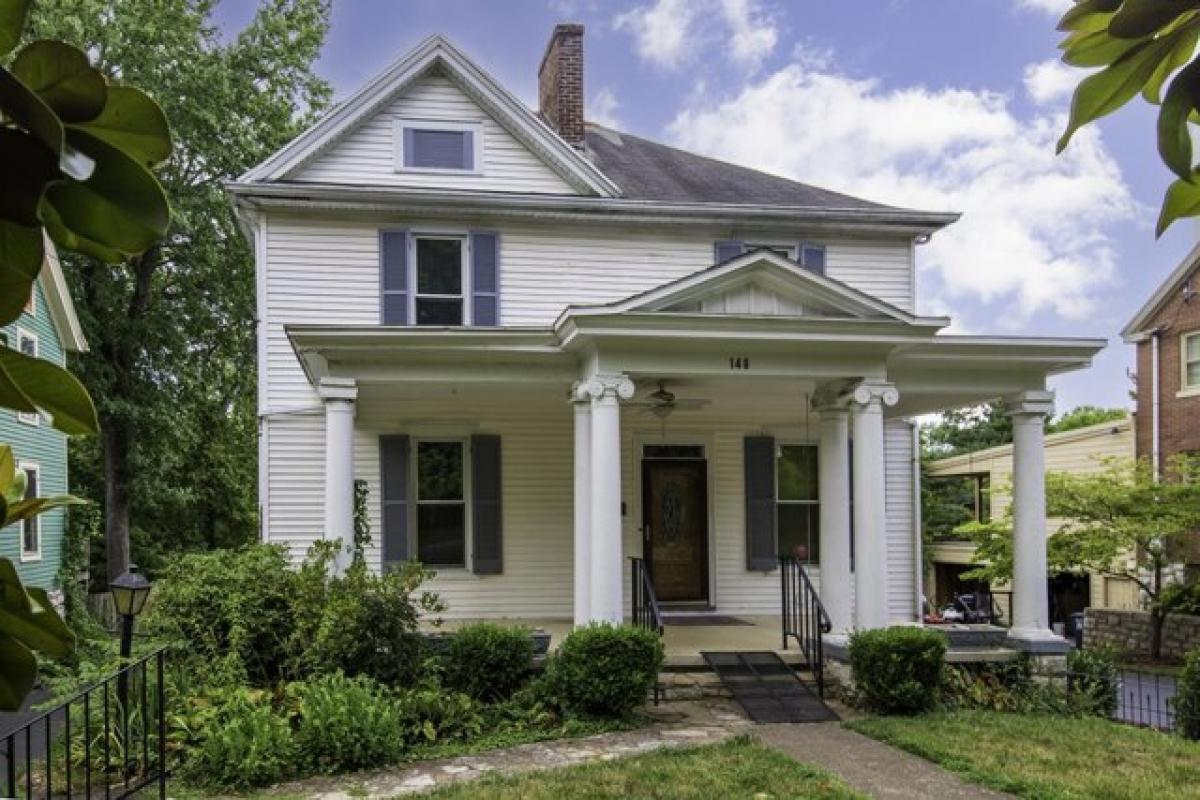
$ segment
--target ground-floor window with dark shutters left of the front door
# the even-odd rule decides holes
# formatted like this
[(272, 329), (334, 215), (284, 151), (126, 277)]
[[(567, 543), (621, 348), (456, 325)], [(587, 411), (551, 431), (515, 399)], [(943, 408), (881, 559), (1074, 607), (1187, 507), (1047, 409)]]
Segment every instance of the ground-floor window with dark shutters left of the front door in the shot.
[(416, 559), (467, 566), (467, 446), (461, 439), (416, 441)]

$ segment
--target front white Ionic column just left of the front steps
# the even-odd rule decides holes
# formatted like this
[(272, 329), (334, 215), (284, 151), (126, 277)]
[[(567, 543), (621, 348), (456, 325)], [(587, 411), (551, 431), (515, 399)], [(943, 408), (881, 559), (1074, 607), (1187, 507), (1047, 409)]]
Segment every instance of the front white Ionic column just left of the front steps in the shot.
[(625, 375), (596, 375), (592, 397), (592, 621), (624, 619), (620, 531), (620, 401), (634, 396)]

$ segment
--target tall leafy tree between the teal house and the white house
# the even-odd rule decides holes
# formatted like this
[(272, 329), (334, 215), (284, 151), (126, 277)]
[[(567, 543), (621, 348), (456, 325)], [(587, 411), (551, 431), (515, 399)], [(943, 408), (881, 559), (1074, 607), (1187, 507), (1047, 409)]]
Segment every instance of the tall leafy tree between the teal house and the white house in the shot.
[(168, 236), (113, 271), (68, 259), (91, 344), (77, 368), (102, 437), (72, 450), (76, 489), (103, 500), (108, 576), (130, 560), (252, 539), (254, 281), (222, 182), (296, 136), (330, 100), (313, 73), (329, 0), (263, 0), (224, 37), (216, 0), (44, 0), (37, 36), (155, 88), (175, 136), (161, 180)]

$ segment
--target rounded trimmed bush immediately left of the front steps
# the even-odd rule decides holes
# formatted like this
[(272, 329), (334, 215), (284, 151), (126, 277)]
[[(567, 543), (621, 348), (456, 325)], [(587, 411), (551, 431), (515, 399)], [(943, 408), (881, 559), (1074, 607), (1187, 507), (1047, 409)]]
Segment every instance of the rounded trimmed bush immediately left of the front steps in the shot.
[(545, 691), (570, 714), (623, 717), (659, 678), (662, 642), (628, 625), (588, 625), (566, 634), (546, 663)]

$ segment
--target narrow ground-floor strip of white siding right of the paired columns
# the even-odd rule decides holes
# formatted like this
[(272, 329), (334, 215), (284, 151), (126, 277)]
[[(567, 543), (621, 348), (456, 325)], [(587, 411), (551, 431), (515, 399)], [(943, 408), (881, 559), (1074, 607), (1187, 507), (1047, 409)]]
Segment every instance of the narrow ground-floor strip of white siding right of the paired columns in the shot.
[(888, 541), (888, 610), (894, 620), (916, 619), (916, 545), (912, 497), (912, 425), (888, 420), (884, 437), (884, 486)]

